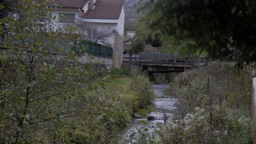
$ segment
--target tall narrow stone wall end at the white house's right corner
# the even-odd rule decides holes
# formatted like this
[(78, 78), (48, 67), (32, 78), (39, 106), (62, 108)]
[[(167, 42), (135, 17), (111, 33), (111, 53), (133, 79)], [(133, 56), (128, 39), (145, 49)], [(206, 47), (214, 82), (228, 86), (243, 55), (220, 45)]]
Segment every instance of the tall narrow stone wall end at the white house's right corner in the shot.
[(118, 32), (115, 33), (115, 42), (113, 48), (113, 67), (120, 68), (123, 61), (123, 51), (124, 51), (124, 37), (119, 35)]

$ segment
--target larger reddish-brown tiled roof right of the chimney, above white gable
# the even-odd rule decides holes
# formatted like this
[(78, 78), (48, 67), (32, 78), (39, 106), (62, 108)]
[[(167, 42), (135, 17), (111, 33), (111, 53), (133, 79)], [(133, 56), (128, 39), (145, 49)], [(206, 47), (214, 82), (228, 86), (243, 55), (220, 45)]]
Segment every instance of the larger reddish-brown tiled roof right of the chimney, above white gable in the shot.
[(118, 19), (125, 0), (97, 0), (92, 10), (87, 10), (83, 18)]

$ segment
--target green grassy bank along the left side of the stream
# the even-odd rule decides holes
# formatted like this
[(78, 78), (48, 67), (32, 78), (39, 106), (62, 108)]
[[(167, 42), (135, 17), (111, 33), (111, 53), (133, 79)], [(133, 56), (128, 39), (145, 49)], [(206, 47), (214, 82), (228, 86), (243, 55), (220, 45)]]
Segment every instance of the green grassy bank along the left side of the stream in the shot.
[(146, 110), (154, 101), (154, 91), (145, 75), (116, 75), (84, 96), (91, 102), (91, 115), (59, 123), (50, 135), (41, 135), (47, 143), (115, 143), (116, 135), (132, 120), (132, 114)]

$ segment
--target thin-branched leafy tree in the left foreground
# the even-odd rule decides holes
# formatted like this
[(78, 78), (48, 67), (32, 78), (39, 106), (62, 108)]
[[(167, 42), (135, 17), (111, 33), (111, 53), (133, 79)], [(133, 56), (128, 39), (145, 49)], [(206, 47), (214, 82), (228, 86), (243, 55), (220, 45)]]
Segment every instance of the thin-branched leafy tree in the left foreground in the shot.
[[(45, 1), (19, 1), (17, 7), (17, 15), (0, 21), (6, 26), (0, 29), (6, 34), (0, 55), (0, 143), (42, 143), (33, 132), (100, 114), (87, 111), (94, 101), (83, 95), (97, 75), (72, 51), (64, 54), (66, 42), (53, 31), (53, 10)], [(43, 29), (40, 19), (48, 21)]]

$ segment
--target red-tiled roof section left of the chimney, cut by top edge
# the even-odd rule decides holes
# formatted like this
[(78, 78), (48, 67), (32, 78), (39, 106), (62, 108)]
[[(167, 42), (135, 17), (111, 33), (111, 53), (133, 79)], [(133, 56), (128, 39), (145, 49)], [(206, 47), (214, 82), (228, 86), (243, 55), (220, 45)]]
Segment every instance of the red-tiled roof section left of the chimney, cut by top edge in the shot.
[[(48, 6), (62, 7), (62, 8), (83, 8), (83, 6), (88, 1), (89, 0), (54, 0), (53, 2), (49, 2)], [(38, 3), (39, 0), (35, 0), (35, 2)]]

